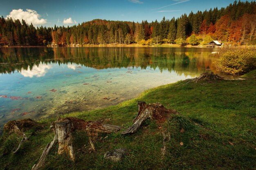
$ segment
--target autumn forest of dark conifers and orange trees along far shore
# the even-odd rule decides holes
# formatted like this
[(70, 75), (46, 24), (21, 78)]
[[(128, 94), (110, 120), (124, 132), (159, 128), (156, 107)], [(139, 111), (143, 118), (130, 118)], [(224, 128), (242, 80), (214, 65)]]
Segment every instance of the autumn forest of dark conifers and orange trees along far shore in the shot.
[(92, 20), (74, 26), (37, 27), (24, 20), (0, 18), (2, 46), (86, 46), (88, 44), (207, 44), (221, 40), (256, 44), (256, 2), (235, 1), (226, 8), (141, 23)]

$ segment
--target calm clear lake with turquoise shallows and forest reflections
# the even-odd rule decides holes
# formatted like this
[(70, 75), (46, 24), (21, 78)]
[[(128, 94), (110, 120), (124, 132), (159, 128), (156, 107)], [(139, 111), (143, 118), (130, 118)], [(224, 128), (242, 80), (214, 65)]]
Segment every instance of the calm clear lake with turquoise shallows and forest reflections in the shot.
[(218, 49), (0, 48), (0, 126), (118, 104), (148, 88), (216, 73)]

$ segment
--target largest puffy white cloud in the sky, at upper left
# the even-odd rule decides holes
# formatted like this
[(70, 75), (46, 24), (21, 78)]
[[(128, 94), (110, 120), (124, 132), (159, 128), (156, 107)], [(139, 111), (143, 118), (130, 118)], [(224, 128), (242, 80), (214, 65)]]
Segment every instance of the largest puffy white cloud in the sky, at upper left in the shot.
[(40, 19), (40, 15), (35, 11), (31, 9), (26, 9), (26, 11), (23, 11), (23, 9), (13, 9), (9, 15), (6, 16), (6, 18), (13, 18), (14, 20), (19, 19), (20, 21), (23, 19), (27, 24), (45, 24), (47, 20)]

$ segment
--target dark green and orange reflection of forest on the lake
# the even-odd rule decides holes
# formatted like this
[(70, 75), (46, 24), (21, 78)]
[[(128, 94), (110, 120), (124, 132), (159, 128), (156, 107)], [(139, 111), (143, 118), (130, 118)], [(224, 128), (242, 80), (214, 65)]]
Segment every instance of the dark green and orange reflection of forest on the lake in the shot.
[[(213, 49), (195, 48), (0, 48), (0, 73), (20, 72), (43, 64), (75, 63), (96, 69), (139, 67), (195, 76), (215, 72)], [(29, 67), (28, 67), (29, 66)]]

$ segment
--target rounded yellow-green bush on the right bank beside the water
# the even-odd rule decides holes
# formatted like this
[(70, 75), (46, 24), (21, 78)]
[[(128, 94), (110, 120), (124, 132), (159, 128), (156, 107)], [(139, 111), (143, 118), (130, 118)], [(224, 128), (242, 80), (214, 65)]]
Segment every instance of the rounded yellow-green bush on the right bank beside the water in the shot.
[(224, 73), (248, 73), (256, 69), (256, 51), (255, 49), (228, 49), (220, 53), (216, 65)]

